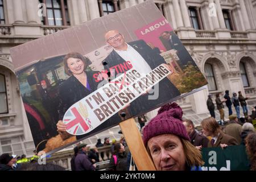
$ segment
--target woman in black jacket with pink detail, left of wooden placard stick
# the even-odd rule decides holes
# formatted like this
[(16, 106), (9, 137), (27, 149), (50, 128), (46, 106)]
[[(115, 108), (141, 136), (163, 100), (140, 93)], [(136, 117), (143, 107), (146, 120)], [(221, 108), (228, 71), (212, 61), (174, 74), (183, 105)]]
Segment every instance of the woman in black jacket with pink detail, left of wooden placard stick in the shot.
[(108, 171), (127, 171), (127, 154), (122, 143), (115, 143), (114, 154), (112, 155)]

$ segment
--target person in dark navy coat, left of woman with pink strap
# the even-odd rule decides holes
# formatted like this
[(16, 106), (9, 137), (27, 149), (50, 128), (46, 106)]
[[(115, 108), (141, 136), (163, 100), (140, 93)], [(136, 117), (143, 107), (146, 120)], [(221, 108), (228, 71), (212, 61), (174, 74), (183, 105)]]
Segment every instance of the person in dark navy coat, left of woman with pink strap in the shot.
[(85, 154), (88, 151), (88, 147), (86, 146), (87, 144), (84, 143), (79, 145), (79, 153), (75, 159), (76, 171), (94, 171), (96, 168), (96, 164), (92, 164)]

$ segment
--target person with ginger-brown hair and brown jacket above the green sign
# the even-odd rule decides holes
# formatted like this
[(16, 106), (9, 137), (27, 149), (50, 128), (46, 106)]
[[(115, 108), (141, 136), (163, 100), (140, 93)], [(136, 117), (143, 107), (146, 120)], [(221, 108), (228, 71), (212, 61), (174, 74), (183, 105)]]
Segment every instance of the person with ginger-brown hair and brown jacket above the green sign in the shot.
[(225, 148), (228, 146), (237, 145), (237, 140), (225, 133), (218, 125), (216, 119), (213, 117), (205, 118), (201, 122), (202, 132), (206, 137), (212, 137), (208, 142), (208, 147), (221, 147)]

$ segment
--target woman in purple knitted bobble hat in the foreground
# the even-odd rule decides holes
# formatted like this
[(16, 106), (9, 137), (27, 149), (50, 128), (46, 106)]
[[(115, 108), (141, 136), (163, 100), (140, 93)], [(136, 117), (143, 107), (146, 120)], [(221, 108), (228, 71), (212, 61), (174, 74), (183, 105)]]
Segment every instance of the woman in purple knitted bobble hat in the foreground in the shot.
[(143, 130), (143, 142), (158, 171), (200, 171), (204, 162), (190, 143), (182, 123), (183, 111), (175, 102), (158, 110)]

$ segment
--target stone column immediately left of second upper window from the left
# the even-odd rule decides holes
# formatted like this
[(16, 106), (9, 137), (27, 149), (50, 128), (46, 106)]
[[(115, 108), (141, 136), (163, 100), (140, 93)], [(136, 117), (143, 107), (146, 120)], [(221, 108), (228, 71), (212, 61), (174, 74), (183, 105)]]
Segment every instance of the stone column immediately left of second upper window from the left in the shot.
[(38, 4), (34, 0), (26, 0), (26, 8), (27, 23), (40, 23), (40, 19), (38, 18)]

